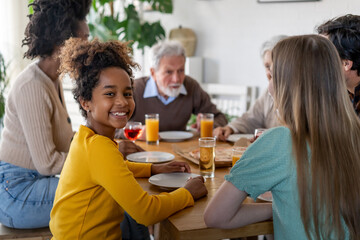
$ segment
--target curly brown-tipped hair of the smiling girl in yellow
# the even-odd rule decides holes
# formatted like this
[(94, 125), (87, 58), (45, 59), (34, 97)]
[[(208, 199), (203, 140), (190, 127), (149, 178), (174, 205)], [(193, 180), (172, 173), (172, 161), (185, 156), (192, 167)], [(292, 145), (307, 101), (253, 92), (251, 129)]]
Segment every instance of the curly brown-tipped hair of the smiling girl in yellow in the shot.
[(133, 85), (132, 68), (140, 66), (132, 60), (130, 54), (131, 48), (127, 42), (101, 42), (98, 39), (84, 41), (79, 38), (70, 38), (65, 42), (60, 53), (60, 78), (68, 74), (75, 80), (74, 98), (85, 118), (87, 114), (81, 107), (80, 99), (92, 99), (93, 89), (98, 85), (102, 70), (109, 67), (122, 68), (129, 75), (131, 86)]

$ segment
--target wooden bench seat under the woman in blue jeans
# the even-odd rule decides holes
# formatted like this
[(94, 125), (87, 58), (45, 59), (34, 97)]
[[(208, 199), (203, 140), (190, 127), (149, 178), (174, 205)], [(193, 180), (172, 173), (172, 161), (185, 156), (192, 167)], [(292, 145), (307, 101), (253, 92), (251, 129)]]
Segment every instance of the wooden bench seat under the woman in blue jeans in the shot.
[(37, 229), (14, 229), (5, 227), (0, 223), (0, 239), (18, 240), (50, 240), (52, 234), (48, 227)]

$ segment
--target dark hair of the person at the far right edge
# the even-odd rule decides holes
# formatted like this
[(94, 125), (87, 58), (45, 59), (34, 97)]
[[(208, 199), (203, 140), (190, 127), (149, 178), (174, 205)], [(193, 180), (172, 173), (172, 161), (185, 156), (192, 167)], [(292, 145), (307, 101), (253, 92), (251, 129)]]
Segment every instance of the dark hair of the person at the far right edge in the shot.
[(353, 62), (352, 70), (360, 76), (360, 16), (347, 14), (317, 27), (335, 45), (341, 59)]

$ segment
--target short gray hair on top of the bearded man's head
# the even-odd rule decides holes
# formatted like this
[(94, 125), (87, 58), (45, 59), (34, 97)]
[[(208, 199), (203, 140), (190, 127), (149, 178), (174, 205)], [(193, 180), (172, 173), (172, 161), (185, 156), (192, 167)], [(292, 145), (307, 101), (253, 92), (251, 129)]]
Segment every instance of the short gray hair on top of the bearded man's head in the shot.
[(183, 56), (186, 58), (185, 49), (178, 41), (158, 42), (150, 51), (150, 67), (159, 69), (160, 60), (165, 56)]

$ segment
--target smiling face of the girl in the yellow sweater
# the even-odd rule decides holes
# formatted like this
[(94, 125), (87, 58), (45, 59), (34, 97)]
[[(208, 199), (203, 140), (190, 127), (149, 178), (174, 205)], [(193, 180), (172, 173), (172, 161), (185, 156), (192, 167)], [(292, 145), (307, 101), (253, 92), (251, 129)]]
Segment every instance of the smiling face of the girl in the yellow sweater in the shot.
[(87, 111), (87, 124), (95, 133), (114, 138), (115, 129), (125, 127), (135, 102), (129, 75), (119, 67), (101, 71), (90, 101), (81, 101)]

